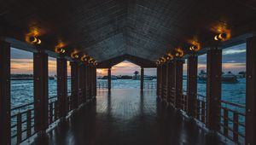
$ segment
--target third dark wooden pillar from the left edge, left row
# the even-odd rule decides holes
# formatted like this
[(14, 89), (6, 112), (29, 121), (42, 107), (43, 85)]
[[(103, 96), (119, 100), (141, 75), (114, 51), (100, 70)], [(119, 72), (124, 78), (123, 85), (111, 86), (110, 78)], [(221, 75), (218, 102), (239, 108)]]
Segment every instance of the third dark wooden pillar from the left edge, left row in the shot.
[(67, 60), (57, 59), (57, 94), (60, 117), (64, 118), (67, 114)]

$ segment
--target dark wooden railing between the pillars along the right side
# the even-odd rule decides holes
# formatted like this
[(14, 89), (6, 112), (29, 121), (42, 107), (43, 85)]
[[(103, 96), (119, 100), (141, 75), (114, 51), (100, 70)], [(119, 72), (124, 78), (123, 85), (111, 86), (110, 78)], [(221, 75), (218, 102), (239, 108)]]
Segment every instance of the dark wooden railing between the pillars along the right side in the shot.
[[(183, 95), (182, 109), (187, 110), (188, 104), (187, 95)], [(245, 141), (245, 110), (244, 105), (233, 102), (221, 101), (221, 121), (219, 123), (220, 130), (218, 131), (224, 137), (236, 144), (244, 144)], [(206, 124), (207, 120), (207, 97), (197, 95), (196, 119), (201, 123)]]

